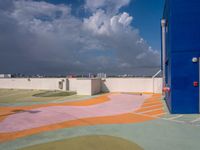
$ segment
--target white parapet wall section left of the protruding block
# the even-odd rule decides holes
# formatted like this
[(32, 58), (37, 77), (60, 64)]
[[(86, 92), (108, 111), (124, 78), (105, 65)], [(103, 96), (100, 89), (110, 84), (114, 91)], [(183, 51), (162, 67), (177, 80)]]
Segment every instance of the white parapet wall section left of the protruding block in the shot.
[(3, 78), (0, 79), (0, 88), (66, 91), (68, 80), (66, 78)]

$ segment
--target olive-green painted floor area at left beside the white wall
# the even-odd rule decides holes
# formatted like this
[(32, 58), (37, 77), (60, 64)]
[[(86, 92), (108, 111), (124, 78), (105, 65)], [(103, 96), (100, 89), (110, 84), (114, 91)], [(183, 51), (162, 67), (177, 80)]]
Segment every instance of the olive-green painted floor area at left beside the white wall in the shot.
[(58, 93), (58, 91), (44, 90), (0, 89), (0, 106), (27, 106), (34, 104), (62, 103), (65, 101), (76, 101), (90, 98), (90, 96), (76, 94), (70, 96), (37, 96), (44, 92)]

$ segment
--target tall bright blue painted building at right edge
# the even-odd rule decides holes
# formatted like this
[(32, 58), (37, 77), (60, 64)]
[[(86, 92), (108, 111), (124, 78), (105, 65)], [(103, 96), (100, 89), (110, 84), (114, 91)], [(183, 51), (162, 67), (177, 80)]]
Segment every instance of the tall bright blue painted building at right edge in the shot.
[(200, 0), (166, 0), (166, 102), (171, 113), (199, 113)]

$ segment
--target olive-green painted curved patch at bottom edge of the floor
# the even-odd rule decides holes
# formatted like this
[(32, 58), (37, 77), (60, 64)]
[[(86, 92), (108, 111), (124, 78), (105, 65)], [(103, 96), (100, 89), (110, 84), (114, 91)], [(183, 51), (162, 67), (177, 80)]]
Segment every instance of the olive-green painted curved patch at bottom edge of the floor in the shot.
[(137, 144), (114, 136), (90, 135), (34, 145), (21, 150), (142, 150)]

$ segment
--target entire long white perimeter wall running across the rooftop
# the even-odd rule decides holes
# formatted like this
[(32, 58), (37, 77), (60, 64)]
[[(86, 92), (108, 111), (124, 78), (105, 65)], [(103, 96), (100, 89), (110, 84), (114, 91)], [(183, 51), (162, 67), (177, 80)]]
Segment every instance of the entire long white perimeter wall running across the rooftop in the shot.
[[(59, 82), (63, 88), (59, 88)], [(9, 78), (0, 79), (4, 89), (69, 90), (78, 95), (94, 95), (100, 92), (150, 92), (162, 93), (162, 78)]]

